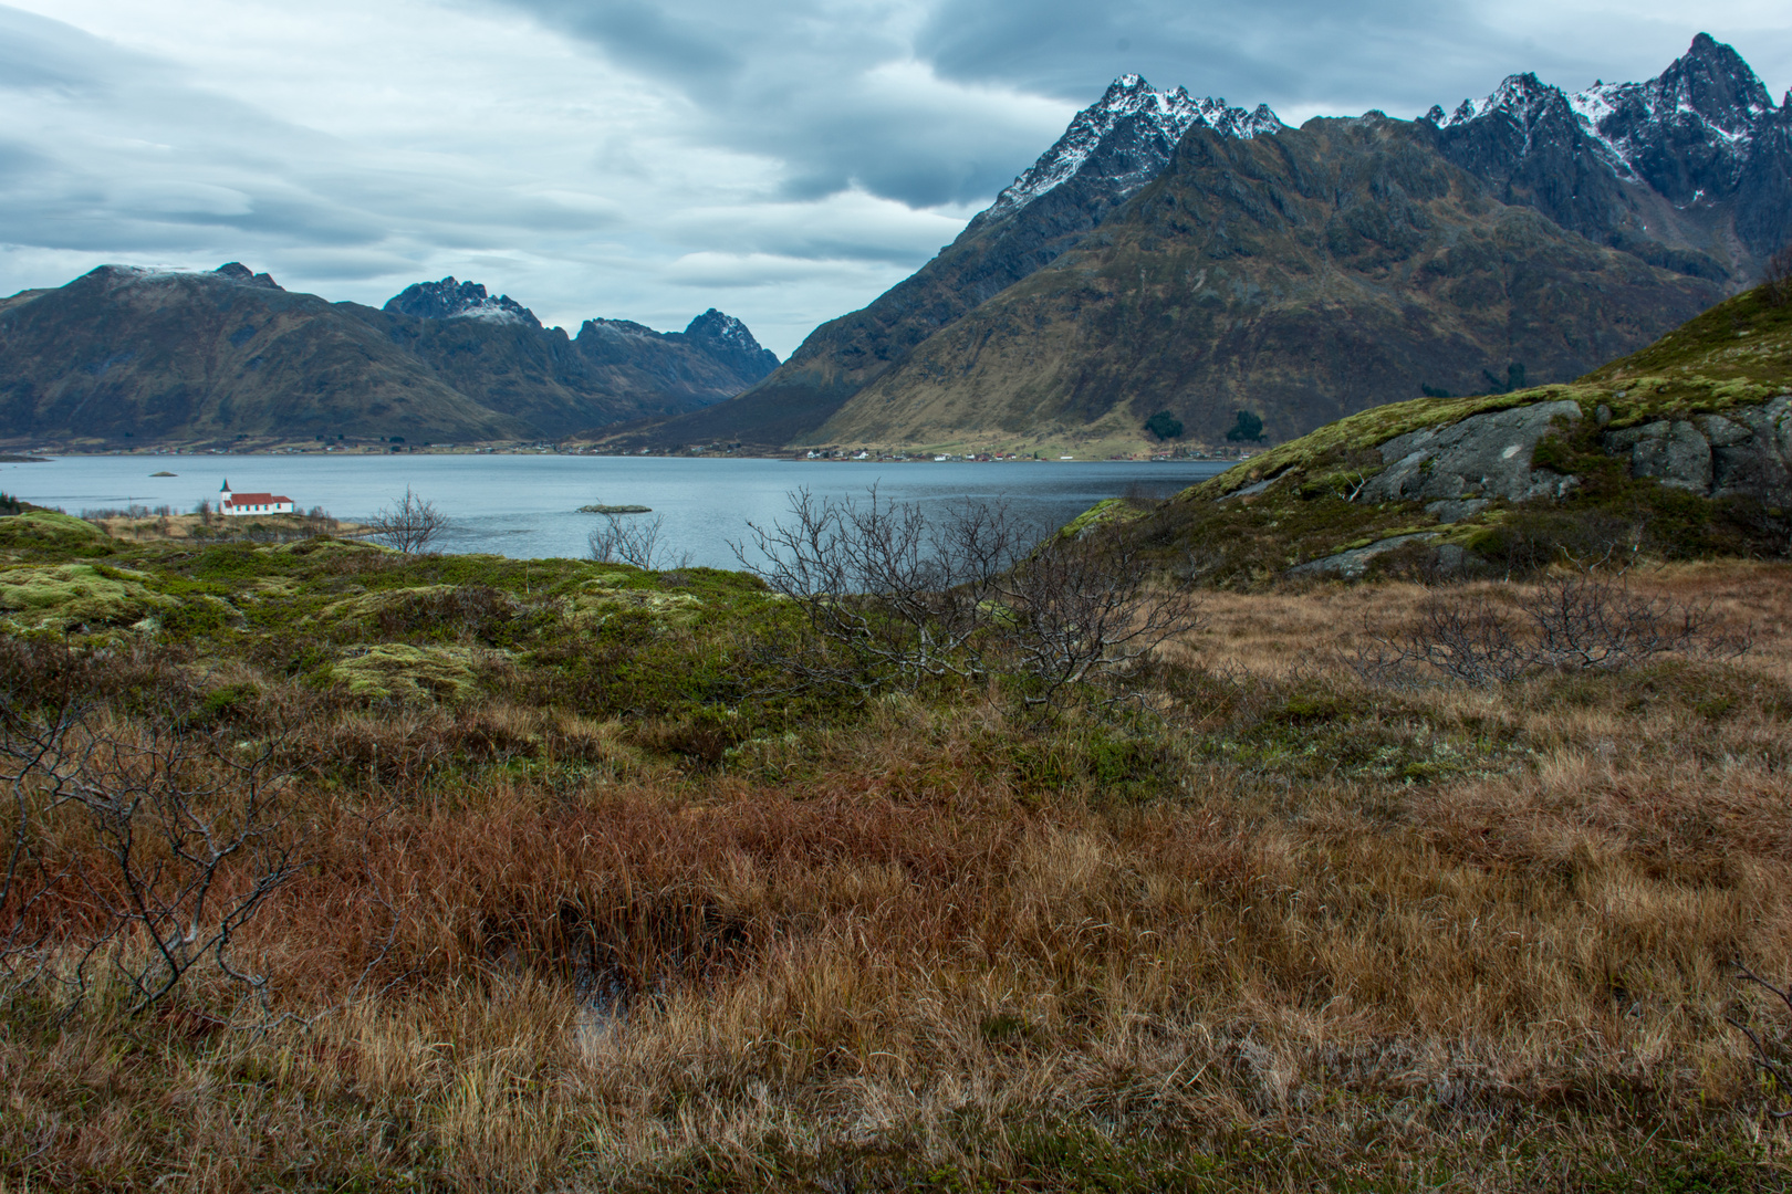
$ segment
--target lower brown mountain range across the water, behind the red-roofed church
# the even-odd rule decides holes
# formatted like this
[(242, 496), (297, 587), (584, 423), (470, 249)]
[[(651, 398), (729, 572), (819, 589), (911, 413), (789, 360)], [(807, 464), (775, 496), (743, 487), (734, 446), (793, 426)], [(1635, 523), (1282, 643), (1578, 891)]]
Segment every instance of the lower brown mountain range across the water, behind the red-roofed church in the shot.
[(683, 333), (588, 320), (568, 338), (453, 277), (375, 310), (235, 261), (106, 265), (0, 299), (0, 440), (559, 437), (688, 412), (776, 365), (715, 310)]

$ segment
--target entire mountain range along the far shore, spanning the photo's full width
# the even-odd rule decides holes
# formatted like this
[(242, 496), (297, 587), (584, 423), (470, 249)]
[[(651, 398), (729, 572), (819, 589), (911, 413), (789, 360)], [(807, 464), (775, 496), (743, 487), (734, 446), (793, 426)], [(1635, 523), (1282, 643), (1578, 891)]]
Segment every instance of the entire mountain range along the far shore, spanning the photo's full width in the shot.
[(1124, 75), (781, 365), (715, 310), (568, 337), (455, 277), (376, 310), (235, 261), (109, 265), (0, 299), (0, 442), (1290, 439), (1581, 376), (1751, 285), (1788, 238), (1792, 95), (1706, 34), (1647, 82), (1518, 73), (1448, 113), (1299, 129)]

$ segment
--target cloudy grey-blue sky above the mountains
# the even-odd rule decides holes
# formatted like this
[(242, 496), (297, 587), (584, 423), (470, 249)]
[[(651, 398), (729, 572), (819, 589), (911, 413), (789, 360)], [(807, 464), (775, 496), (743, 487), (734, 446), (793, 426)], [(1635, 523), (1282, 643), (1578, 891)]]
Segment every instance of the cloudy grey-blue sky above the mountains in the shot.
[(1776, 100), (1783, 0), (13, 0), (0, 294), (238, 260), (382, 304), (444, 276), (577, 333), (710, 306), (787, 356), (901, 281), (1136, 72), (1288, 124), (1514, 72)]

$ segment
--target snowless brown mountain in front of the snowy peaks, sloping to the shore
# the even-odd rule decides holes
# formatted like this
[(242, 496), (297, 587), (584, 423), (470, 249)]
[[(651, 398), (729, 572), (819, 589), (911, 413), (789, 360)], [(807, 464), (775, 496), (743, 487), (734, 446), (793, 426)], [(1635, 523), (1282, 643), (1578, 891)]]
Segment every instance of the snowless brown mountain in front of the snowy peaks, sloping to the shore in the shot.
[[(1276, 439), (1523, 365), (1573, 378), (1720, 297), (1493, 199), (1434, 131), (1371, 115), (1193, 129), (1098, 235), (932, 337), (814, 435), (842, 444), (1142, 439), (1170, 410)], [(1495, 383), (1498, 385), (1498, 381)]]

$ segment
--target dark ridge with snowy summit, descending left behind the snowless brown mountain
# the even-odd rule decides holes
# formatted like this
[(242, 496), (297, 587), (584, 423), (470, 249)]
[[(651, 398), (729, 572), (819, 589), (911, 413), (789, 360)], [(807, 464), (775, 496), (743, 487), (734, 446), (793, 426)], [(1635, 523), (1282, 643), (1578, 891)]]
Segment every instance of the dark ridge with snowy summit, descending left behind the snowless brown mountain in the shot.
[(814, 430), (918, 344), (1077, 243), (1163, 170), (1190, 127), (1253, 138), (1283, 125), (1269, 107), (1228, 107), (1125, 75), (916, 274), (817, 328), (747, 394), (650, 428), (642, 442), (774, 446)]

